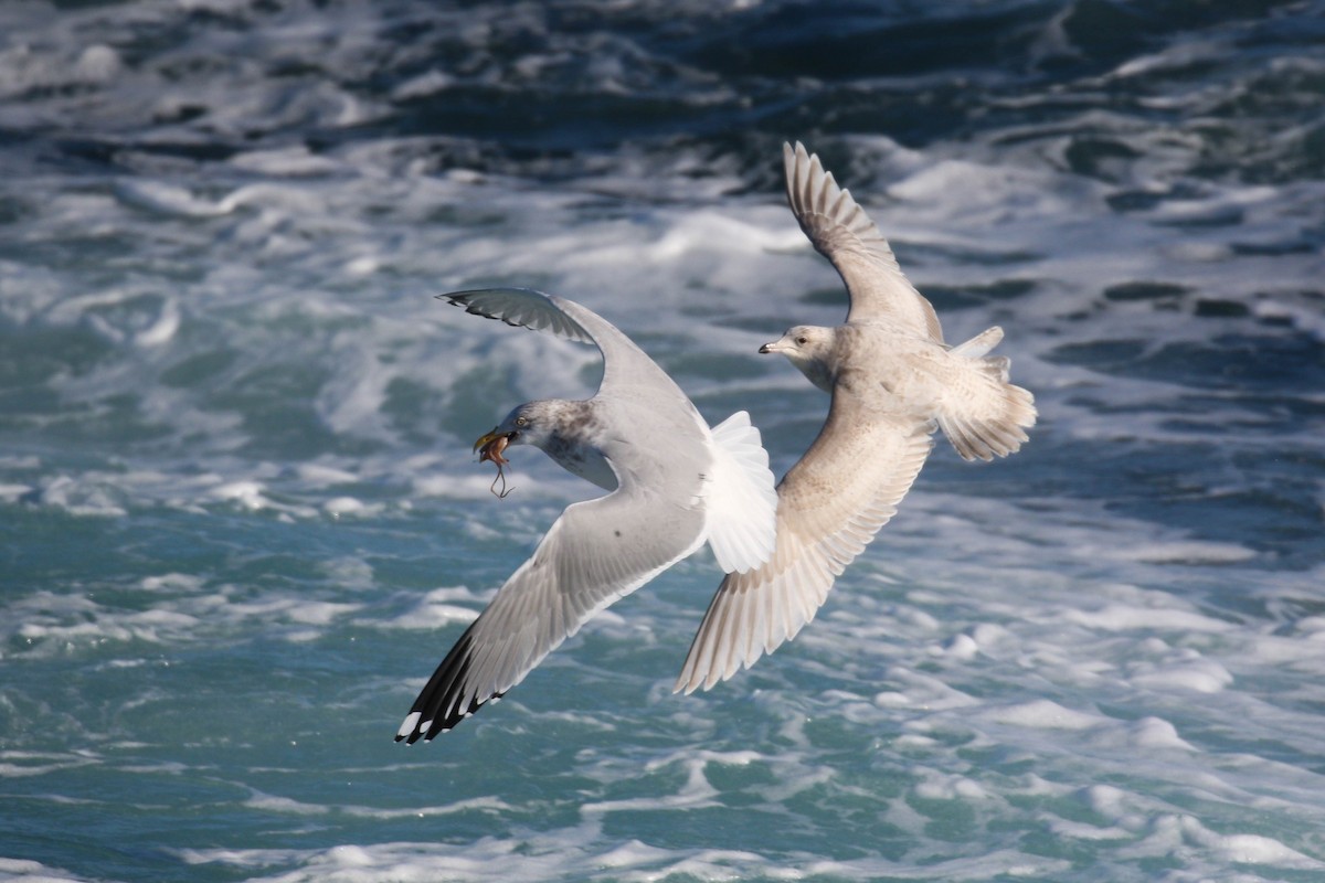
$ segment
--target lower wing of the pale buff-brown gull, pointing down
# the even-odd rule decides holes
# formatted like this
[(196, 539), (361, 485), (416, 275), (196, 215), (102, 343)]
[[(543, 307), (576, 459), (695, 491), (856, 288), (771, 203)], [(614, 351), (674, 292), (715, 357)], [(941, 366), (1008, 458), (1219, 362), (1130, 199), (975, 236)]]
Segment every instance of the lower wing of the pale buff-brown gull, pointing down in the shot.
[(778, 485), (772, 557), (722, 580), (674, 690), (708, 690), (795, 637), (897, 511), (933, 432), (929, 421), (871, 409), (839, 383), (823, 430)]

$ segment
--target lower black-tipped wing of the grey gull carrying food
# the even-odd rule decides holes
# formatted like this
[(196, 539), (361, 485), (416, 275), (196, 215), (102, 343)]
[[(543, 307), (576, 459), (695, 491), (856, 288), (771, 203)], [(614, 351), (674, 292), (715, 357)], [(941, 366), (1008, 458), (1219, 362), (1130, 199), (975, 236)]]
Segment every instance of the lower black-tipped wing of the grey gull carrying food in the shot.
[(595, 613), (704, 541), (704, 514), (621, 488), (568, 506), (415, 699), (396, 741), (428, 740), (525, 679)]

